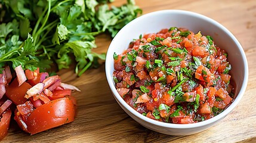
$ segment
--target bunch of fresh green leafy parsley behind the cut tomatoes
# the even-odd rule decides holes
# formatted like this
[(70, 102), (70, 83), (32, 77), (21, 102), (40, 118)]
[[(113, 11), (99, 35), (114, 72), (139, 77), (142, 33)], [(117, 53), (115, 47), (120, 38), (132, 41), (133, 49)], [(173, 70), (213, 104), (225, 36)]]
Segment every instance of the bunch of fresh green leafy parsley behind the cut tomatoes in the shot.
[(55, 63), (66, 69), (74, 56), (78, 76), (105, 59), (91, 51), (95, 35), (108, 32), (113, 37), (141, 14), (133, 0), (112, 8), (107, 5), (111, 0), (0, 2), (0, 68), (21, 64), (23, 69), (47, 69)]

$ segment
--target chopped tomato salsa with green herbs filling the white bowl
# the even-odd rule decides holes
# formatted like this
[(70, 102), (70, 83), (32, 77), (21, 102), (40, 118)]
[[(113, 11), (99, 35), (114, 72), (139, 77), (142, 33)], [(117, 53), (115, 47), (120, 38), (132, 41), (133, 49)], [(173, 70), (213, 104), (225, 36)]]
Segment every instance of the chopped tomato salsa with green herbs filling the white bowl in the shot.
[(118, 93), (150, 119), (201, 122), (233, 101), (227, 53), (201, 32), (171, 27), (140, 35), (113, 58)]

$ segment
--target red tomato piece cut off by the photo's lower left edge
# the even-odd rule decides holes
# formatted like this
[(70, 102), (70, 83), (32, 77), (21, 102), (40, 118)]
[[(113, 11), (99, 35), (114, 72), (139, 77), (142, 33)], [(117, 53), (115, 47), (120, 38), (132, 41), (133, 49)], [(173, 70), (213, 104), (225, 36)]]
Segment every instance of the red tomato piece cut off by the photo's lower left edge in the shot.
[(2, 114), (2, 118), (0, 121), (0, 141), (4, 139), (4, 137), (8, 133), (10, 120), (11, 120), (11, 110), (7, 110), (5, 111), (5, 113)]

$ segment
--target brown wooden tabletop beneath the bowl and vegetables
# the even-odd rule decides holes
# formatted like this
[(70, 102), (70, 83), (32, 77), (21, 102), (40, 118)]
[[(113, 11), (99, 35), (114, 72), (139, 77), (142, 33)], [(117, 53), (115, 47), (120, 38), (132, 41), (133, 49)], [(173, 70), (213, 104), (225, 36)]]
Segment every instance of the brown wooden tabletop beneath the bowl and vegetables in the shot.
[[(116, 0), (114, 5), (124, 4)], [(238, 38), (249, 63), (249, 82), (238, 106), (212, 128), (190, 136), (170, 136), (146, 129), (117, 104), (104, 73), (104, 65), (77, 78), (73, 70), (59, 72), (64, 82), (81, 89), (76, 92), (75, 122), (30, 136), (12, 123), (2, 142), (256, 142), (256, 1), (255, 0), (137, 0), (143, 13), (178, 9), (206, 15), (223, 24)], [(106, 52), (111, 38), (97, 37), (97, 52)]]

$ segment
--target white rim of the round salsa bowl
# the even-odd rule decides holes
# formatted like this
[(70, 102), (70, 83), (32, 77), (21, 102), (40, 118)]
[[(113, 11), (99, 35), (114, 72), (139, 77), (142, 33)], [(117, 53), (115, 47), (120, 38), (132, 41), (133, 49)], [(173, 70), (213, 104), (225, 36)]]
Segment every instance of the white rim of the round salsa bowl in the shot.
[[(116, 87), (113, 83), (113, 73), (110, 72), (110, 65), (113, 64), (110, 62), (110, 59), (113, 58), (113, 55), (110, 55), (109, 51), (112, 51), (114, 47), (113, 46), (113, 42), (116, 41), (117, 37), (120, 35), (120, 33), (122, 33), (122, 31), (124, 29), (126, 29), (129, 25), (137, 23), (137, 21), (143, 20), (143, 18), (147, 18), (147, 17), (151, 17), (152, 15), (159, 15), (159, 14), (186, 14), (186, 15), (191, 15), (193, 17), (196, 18), (201, 18), (203, 20), (208, 21), (209, 23), (214, 24), (215, 26), (217, 26), (218, 28), (220, 28), (221, 30), (223, 30), (225, 33), (227, 33), (228, 36), (230, 36), (230, 38), (235, 42), (235, 44), (238, 46), (240, 54), (242, 55), (242, 59), (243, 59), (243, 64), (245, 66), (245, 76), (243, 77), (243, 82), (242, 82), (242, 87), (240, 89), (240, 91), (238, 92), (238, 95), (236, 96), (235, 100), (232, 102), (232, 104), (229, 105), (229, 107), (227, 107), (222, 113), (218, 114), (217, 116), (212, 117), (211, 119), (202, 121), (202, 122), (198, 122), (198, 123), (192, 123), (192, 124), (174, 124), (174, 123), (165, 123), (165, 122), (159, 122), (157, 120), (153, 120), (150, 119), (146, 116), (143, 116), (142, 114), (138, 113), (136, 110), (134, 110), (134, 108), (130, 107), (127, 102), (125, 102), (122, 97), (118, 94)], [(128, 46), (127, 46), (128, 47)], [(109, 48), (107, 49), (107, 55), (106, 55), (106, 63), (105, 63), (105, 71), (106, 71), (106, 77), (107, 77), (107, 82), (109, 83), (109, 87), (113, 93), (113, 95), (115, 96), (115, 100), (118, 100), (118, 102), (120, 104), (122, 104), (130, 113), (134, 114), (134, 116), (137, 116), (138, 118), (140, 118), (141, 120), (144, 120), (147, 123), (151, 123), (153, 125), (157, 125), (157, 126), (162, 126), (165, 128), (174, 128), (174, 129), (189, 129), (189, 128), (198, 128), (200, 126), (206, 126), (206, 125), (210, 125), (214, 122), (217, 122), (220, 119), (223, 119), (225, 116), (227, 116), (227, 114), (230, 113), (230, 111), (233, 110), (233, 108), (236, 107), (236, 105), (238, 105), (238, 102), (242, 99), (243, 94), (245, 93), (246, 90), (246, 86), (248, 83), (248, 62), (246, 59), (246, 55), (245, 52), (243, 51), (242, 45), (240, 45), (238, 39), (235, 38), (235, 36), (228, 30), (226, 29), (226, 27), (224, 27), (223, 25), (221, 25), (220, 23), (218, 23), (215, 20), (212, 20), (209, 17), (206, 17), (205, 15), (202, 14), (198, 14), (198, 13), (194, 13), (191, 11), (184, 11), (184, 10), (161, 10), (161, 11), (155, 11), (152, 13), (147, 13), (144, 15), (141, 15), (140, 17), (135, 18), (134, 20), (132, 20), (130, 23), (128, 23), (127, 25), (125, 25), (115, 36), (115, 38), (113, 38), (112, 42), (109, 45)]]

